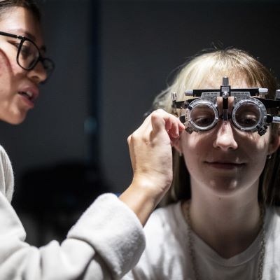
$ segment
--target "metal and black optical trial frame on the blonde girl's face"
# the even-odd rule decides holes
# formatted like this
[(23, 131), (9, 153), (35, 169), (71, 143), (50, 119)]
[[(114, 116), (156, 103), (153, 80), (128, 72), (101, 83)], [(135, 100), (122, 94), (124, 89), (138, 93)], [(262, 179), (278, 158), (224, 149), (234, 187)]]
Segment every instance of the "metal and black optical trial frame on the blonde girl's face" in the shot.
[[(263, 135), (267, 132), (267, 127), (271, 123), (280, 123), (279, 116), (272, 116), (267, 114), (269, 108), (275, 108), (279, 111), (280, 107), (280, 90), (276, 90), (275, 99), (265, 99), (265, 94), (267, 94), (267, 88), (237, 88), (232, 89), (229, 85), (228, 77), (223, 77), (223, 85), (220, 89), (207, 89), (207, 90), (186, 90), (185, 95), (187, 97), (193, 97), (193, 99), (188, 99), (184, 101), (177, 102), (177, 96), (175, 92), (172, 92), (172, 107), (174, 113), (177, 115), (176, 109), (186, 110), (185, 114), (180, 116), (181, 123), (186, 126), (186, 132), (192, 133), (203, 132), (213, 128), (219, 119), (227, 121), (229, 118), (232, 118), (232, 123), (241, 131), (246, 132), (258, 132), (258, 134)], [(223, 97), (223, 112), (221, 116), (218, 115), (218, 106), (217, 106), (217, 97)], [(228, 97), (234, 97), (234, 106), (232, 109), (232, 115), (228, 113)], [(211, 107), (214, 112), (214, 120), (211, 125), (206, 127), (197, 126), (190, 115), (195, 106), (205, 105)], [(236, 121), (235, 113), (240, 106), (244, 104), (251, 104), (260, 113), (260, 118), (258, 123), (251, 127), (242, 127)]]

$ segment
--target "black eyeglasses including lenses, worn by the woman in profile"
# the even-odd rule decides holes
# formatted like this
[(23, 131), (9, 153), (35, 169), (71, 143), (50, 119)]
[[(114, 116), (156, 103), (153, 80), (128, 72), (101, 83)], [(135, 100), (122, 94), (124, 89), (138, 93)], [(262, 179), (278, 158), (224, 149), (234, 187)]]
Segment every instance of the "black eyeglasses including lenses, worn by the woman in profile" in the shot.
[(34, 41), (31, 41), (25, 36), (10, 34), (2, 31), (0, 31), (0, 35), (20, 40), (20, 43), (14, 45), (18, 47), (17, 62), (22, 69), (30, 71), (34, 69), (38, 62), (41, 62), (47, 73), (47, 78), (50, 77), (50, 74), (55, 69), (55, 64), (51, 59), (41, 56), (40, 50)]

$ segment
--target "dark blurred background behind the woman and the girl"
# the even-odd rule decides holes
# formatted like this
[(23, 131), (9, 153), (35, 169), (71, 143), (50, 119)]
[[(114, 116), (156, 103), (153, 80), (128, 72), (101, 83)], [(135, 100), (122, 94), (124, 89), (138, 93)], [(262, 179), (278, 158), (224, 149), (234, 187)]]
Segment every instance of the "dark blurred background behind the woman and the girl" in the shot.
[(39, 3), (56, 69), (25, 123), (0, 123), (13, 206), (37, 246), (64, 239), (97, 195), (129, 186), (127, 137), (189, 56), (233, 45), (280, 74), (279, 1)]

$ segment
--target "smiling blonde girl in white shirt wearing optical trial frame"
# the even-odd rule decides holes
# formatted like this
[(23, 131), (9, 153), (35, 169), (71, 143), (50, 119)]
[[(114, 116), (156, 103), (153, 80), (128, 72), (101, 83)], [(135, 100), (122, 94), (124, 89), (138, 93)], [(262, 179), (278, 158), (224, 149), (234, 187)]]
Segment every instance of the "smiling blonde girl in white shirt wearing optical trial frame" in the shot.
[(279, 102), (264, 100), (275, 91), (265, 66), (228, 48), (190, 59), (155, 99), (186, 131), (167, 206), (148, 220), (146, 250), (124, 279), (280, 279), (279, 125), (269, 125)]

